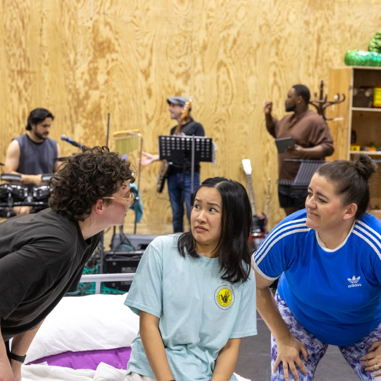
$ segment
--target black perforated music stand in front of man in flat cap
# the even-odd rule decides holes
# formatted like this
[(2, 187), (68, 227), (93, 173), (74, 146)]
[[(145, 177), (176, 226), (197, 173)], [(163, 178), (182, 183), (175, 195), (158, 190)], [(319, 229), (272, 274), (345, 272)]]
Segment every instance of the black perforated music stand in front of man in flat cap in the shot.
[(159, 136), (160, 160), (167, 160), (169, 163), (176, 161), (185, 164), (186, 160), (191, 157), (191, 203), (193, 202), (194, 194), (194, 162), (214, 162), (214, 154), (215, 151), (211, 137), (194, 135)]

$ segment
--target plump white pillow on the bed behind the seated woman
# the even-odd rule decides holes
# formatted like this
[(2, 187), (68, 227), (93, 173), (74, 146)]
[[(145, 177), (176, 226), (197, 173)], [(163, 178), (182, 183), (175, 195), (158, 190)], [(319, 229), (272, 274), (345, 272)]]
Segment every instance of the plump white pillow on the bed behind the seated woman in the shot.
[(129, 347), (139, 317), (124, 305), (126, 295), (64, 297), (42, 323), (25, 362), (67, 351)]

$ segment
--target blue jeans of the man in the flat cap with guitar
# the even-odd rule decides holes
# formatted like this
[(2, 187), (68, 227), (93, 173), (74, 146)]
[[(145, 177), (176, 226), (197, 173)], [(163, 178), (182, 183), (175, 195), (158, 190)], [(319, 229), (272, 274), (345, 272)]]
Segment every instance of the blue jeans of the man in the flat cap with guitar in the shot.
[[(184, 232), (184, 202), (187, 207), (187, 217), (191, 220), (191, 172), (176, 173), (168, 176), (168, 193), (172, 207), (173, 232)], [(200, 174), (194, 172), (193, 176), (193, 196), (200, 185)], [(183, 197), (184, 191), (184, 197)]]

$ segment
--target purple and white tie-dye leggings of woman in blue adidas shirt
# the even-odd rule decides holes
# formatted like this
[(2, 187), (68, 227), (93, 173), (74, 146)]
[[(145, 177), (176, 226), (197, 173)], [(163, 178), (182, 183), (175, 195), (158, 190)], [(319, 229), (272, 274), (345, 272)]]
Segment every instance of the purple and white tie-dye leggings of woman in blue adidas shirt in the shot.
[[(286, 303), (279, 297), (278, 293), (275, 294), (275, 301), (278, 305), (283, 320), (290, 329), (291, 334), (304, 344), (308, 352), (309, 361), (304, 361), (304, 366), (307, 370), (307, 376), (304, 376), (301, 372), (298, 372), (300, 381), (312, 381), (314, 380), (316, 367), (318, 366), (319, 361), (326, 352), (328, 344), (322, 343), (300, 324), (300, 322), (291, 313)], [(368, 348), (375, 341), (380, 340), (381, 324), (368, 336), (364, 337), (361, 341), (358, 341), (355, 344), (348, 345), (345, 347), (338, 347), (347, 363), (351, 366), (351, 368), (356, 372), (359, 379), (362, 381), (381, 381), (381, 376), (375, 377), (374, 374), (376, 372), (365, 371), (364, 367), (361, 365), (360, 362), (360, 357), (367, 353)], [(274, 367), (276, 355), (276, 340), (274, 339), (274, 336), (271, 335), (271, 370)], [(291, 371), (289, 372), (289, 374), (290, 380), (294, 380)], [(278, 366), (275, 374), (271, 373), (271, 381), (284, 381), (282, 363), (280, 363), (280, 365)]]

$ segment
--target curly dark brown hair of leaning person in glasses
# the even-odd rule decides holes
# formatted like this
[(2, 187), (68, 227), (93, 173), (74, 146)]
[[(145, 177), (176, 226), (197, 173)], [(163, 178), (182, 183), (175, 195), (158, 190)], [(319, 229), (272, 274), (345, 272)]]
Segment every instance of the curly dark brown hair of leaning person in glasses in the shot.
[[(50, 181), (50, 207), (72, 221), (84, 221), (100, 198), (111, 196), (125, 181), (133, 183), (131, 164), (108, 147), (84, 148), (67, 158)], [(106, 204), (111, 200), (105, 199)]]

